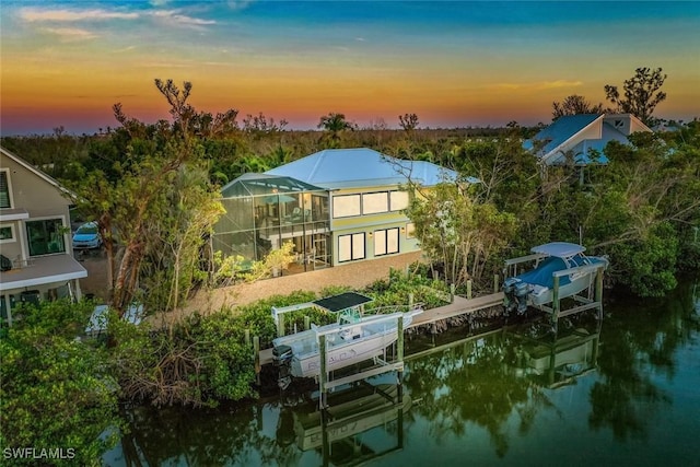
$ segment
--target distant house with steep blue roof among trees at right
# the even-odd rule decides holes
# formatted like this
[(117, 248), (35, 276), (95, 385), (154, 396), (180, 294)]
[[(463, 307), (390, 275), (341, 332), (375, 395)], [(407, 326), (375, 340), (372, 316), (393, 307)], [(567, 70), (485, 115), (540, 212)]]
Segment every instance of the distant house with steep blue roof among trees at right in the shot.
[(652, 131), (631, 114), (580, 114), (559, 117), (524, 147), (547, 165), (607, 164), (610, 141), (629, 143), (637, 131)]

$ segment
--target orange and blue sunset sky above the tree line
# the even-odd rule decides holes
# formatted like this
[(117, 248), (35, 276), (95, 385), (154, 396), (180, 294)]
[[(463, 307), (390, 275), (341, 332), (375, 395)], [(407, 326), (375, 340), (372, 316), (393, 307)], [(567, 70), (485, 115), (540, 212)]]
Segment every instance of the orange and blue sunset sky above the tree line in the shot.
[(663, 68), (655, 116), (700, 117), (700, 2), (12, 1), (1, 14), (0, 133), (92, 133), (112, 105), (167, 117), (155, 78), (198, 110), (315, 128), (418, 114), (421, 127), (551, 120)]

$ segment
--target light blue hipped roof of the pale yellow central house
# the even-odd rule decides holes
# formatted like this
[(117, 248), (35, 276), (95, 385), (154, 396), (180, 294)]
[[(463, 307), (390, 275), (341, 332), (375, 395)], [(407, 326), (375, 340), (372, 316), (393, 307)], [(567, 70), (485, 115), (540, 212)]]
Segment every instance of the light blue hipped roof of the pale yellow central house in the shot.
[[(397, 185), (433, 186), (457, 179), (455, 171), (425, 161), (405, 161), (368, 149), (327, 149), (266, 172), (327, 189)], [(470, 179), (469, 182), (478, 182)]]

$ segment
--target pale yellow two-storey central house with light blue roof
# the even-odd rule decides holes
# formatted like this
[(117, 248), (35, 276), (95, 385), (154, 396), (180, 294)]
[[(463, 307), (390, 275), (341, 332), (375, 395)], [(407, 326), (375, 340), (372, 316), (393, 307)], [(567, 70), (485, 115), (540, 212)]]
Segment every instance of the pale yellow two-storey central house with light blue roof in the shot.
[(424, 161), (398, 160), (366, 148), (334, 149), (268, 171), (328, 190), (329, 230), (314, 242), (331, 266), (419, 249), (408, 207), (410, 180), (430, 187), (456, 179), (454, 171)]

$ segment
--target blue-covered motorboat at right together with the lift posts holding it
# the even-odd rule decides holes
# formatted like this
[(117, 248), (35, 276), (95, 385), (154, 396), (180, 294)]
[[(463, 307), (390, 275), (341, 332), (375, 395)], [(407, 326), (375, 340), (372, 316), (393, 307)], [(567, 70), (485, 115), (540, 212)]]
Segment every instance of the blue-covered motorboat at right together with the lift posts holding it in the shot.
[[(505, 261), (503, 283), (506, 314), (512, 310), (524, 313), (533, 306), (551, 315), (555, 332), (559, 318), (597, 310), (603, 318), (603, 271), (608, 266), (605, 257), (587, 257), (581, 245), (553, 242), (536, 246), (533, 255)], [(518, 265), (535, 261), (535, 268), (518, 275)], [(587, 291), (587, 296), (580, 292)], [(595, 294), (595, 297), (594, 297)], [(562, 310), (561, 300), (571, 297), (579, 305)]]

